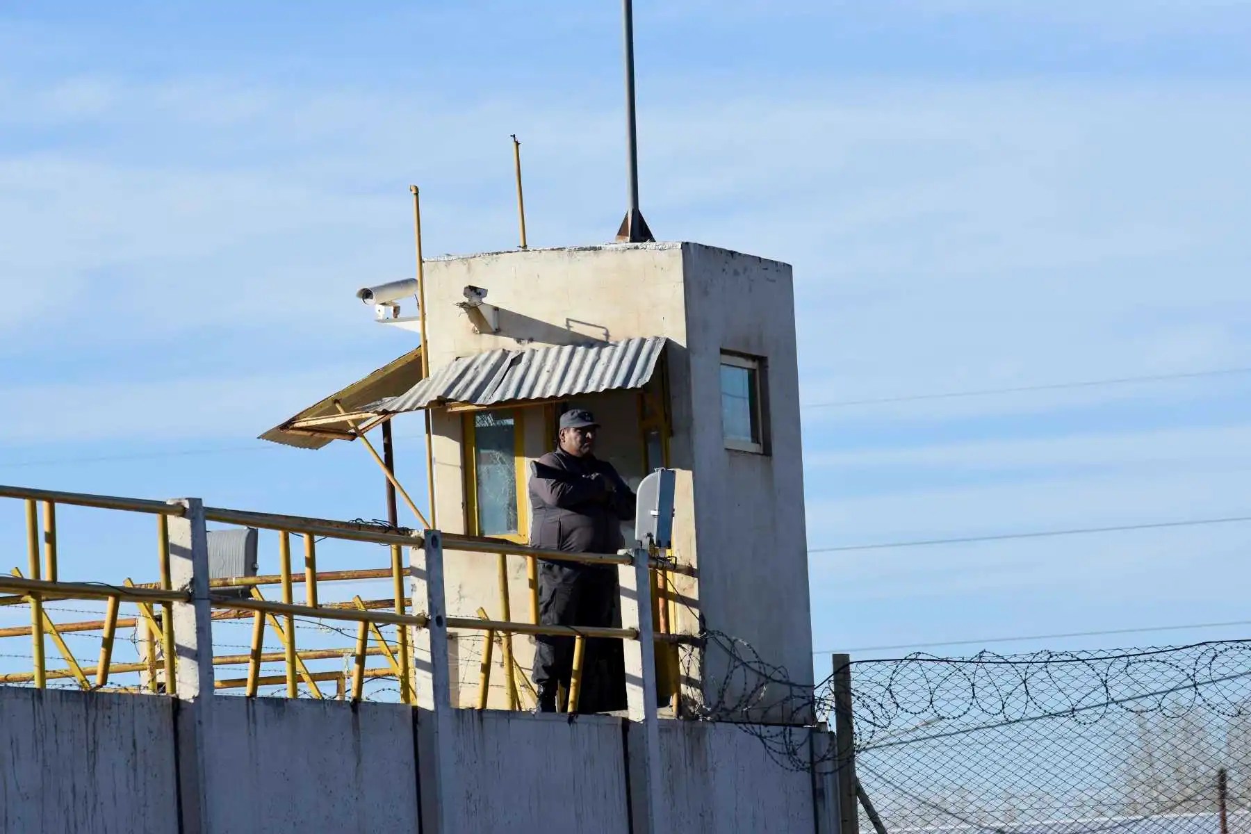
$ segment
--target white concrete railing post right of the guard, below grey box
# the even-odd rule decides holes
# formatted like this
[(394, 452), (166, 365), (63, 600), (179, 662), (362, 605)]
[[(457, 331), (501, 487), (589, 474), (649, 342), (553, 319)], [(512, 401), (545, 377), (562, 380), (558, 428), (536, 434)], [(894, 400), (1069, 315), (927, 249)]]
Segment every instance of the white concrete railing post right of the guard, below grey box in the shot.
[(656, 706), (656, 633), (652, 626), (652, 569), (648, 553), (636, 548), (628, 565), (619, 565), (622, 628), (637, 629), (626, 640), (626, 700), (629, 726), (629, 796), (633, 834), (668, 831), (661, 779), (661, 728)]

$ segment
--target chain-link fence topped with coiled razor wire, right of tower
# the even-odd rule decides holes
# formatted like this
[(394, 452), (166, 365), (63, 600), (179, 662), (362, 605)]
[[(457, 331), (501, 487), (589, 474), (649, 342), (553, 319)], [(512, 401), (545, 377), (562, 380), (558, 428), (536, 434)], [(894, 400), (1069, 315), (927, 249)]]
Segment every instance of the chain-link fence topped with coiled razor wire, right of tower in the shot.
[(857, 775), (891, 834), (1251, 833), (1251, 640), (851, 675)]

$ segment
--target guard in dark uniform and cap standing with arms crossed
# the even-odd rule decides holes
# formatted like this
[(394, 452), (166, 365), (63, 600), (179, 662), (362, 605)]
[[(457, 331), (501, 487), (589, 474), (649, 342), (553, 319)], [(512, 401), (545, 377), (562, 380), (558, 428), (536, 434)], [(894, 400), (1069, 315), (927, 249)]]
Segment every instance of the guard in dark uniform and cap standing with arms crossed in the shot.
[[(634, 493), (613, 465), (595, 458), (599, 424), (590, 411), (560, 415), (559, 444), (532, 466), (530, 545), (569, 553), (617, 553), (622, 521), (634, 518)], [(610, 626), (618, 601), (617, 568), (542, 561), (539, 621), (543, 625)], [(569, 685), (573, 638), (538, 636), (534, 686), (538, 711), (554, 713), (558, 685)], [(579, 711), (623, 705), (626, 671), (618, 640), (587, 640)]]

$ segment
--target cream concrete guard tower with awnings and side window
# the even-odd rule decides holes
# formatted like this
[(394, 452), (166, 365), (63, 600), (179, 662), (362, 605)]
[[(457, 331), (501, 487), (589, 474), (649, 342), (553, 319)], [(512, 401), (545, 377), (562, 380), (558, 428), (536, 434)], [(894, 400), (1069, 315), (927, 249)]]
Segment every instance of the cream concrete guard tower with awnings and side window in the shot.
[[(724, 633), (811, 686), (791, 266), (693, 243), (626, 243), (428, 259), (424, 269), (429, 376), (413, 374), (409, 354), (340, 396), (363, 418), (429, 411), (432, 523), (524, 544), (528, 463), (554, 448), (563, 410), (588, 408), (603, 425), (597, 455), (631, 486), (658, 466), (678, 473), (669, 555), (694, 570), (668, 574), (658, 620), (681, 634)], [(324, 445), (299, 434), (319, 413), (333, 419), (324, 406), (266, 439)], [(508, 619), (507, 604), (514, 619), (533, 615), (530, 563), (448, 559), (449, 614)], [(480, 703), (482, 650), (480, 633), (454, 635), (453, 704)], [(716, 645), (678, 651), (658, 645), (657, 659), (662, 691), (681, 678), (683, 713), (737, 704), (761, 685)], [(494, 654), (487, 705), (507, 709), (505, 653)], [(524, 685), (533, 641), (513, 638), (512, 654)], [(811, 720), (779, 704), (787, 694), (769, 686), (722, 718)]]

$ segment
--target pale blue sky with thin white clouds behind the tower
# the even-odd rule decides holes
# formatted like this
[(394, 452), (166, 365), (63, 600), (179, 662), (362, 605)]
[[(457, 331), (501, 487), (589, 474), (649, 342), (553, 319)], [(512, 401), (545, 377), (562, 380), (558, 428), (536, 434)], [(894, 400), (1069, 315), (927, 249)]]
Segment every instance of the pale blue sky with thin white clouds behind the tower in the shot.
[[(807, 404), (1251, 366), (1251, 4), (636, 5), (648, 220), (794, 264)], [(253, 438), (409, 346), (352, 298), (412, 273), (409, 183), (428, 254), (507, 248), (517, 133), (532, 245), (612, 235), (618, 14), (5, 4), (0, 481), (382, 515), (359, 449)], [(808, 408), (804, 445), (813, 548), (1245, 515), (1251, 374)], [(814, 644), (1251, 619), (1248, 539), (814, 554)]]

